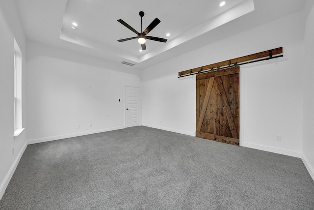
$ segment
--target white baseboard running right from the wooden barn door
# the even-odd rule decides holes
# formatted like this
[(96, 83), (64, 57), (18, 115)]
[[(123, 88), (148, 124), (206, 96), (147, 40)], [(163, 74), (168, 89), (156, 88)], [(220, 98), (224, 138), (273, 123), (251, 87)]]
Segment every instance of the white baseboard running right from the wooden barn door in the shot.
[(277, 147), (272, 147), (272, 146), (268, 146), (268, 145), (250, 143), (250, 142), (244, 142), (241, 146), (301, 158), (301, 151), (288, 150), (288, 149), (284, 149), (284, 148), (277, 148)]

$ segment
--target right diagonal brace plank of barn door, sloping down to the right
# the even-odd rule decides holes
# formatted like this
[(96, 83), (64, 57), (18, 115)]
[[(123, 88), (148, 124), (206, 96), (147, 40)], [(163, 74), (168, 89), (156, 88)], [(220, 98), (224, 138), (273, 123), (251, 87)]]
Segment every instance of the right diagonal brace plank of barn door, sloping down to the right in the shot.
[(216, 77), (215, 81), (217, 83), (218, 90), (221, 93), (221, 98), (222, 98), (222, 102), (224, 104), (224, 110), (225, 110), (227, 120), (228, 120), (228, 123), (230, 126), (232, 137), (235, 139), (238, 139), (239, 134), (238, 134), (236, 127), (235, 127), (235, 120), (234, 120), (234, 117), (233, 117), (231, 110), (230, 110), (230, 104), (228, 102), (227, 95), (226, 95), (226, 92), (225, 92), (224, 87), (223, 87), (223, 82), (222, 82), (220, 77)]

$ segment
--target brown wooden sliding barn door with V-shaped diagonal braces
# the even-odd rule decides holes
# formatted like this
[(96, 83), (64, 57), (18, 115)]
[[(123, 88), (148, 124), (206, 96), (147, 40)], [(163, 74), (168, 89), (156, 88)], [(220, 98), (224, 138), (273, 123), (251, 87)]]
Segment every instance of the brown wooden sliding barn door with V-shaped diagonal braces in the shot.
[(239, 145), (239, 67), (196, 76), (196, 137)]

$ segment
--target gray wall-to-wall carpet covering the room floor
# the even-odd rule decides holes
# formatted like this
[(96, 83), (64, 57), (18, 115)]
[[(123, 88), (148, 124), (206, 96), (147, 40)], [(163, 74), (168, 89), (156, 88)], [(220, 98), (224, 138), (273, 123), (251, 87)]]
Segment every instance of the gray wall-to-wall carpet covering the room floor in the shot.
[(132, 127), (28, 145), (1, 210), (313, 210), (300, 158)]

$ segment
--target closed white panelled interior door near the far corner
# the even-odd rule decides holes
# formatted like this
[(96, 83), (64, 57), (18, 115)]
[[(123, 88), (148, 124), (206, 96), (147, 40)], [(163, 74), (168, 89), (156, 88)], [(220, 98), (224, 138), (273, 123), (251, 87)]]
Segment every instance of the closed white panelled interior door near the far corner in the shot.
[(139, 88), (126, 87), (126, 127), (139, 125)]

